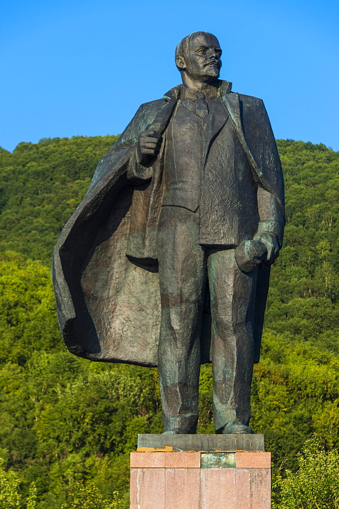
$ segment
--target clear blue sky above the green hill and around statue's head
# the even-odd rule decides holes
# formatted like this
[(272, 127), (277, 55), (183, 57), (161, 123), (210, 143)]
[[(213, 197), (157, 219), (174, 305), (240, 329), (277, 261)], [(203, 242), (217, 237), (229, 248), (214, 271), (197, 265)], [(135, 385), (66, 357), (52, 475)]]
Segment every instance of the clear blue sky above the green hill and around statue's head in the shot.
[(174, 49), (204, 30), (221, 78), (264, 100), (275, 137), (339, 150), (339, 2), (1, 0), (0, 146), (120, 133), (180, 82)]

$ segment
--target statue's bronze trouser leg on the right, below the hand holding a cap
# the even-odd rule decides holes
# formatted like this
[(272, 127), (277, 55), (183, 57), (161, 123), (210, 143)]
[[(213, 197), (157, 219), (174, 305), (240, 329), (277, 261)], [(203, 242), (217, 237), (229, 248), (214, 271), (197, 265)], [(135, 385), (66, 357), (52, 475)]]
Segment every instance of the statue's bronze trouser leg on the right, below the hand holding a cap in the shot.
[(208, 258), (212, 315), (213, 411), (215, 431), (229, 422), (248, 426), (251, 417), (253, 325), (257, 270), (244, 274), (234, 249)]

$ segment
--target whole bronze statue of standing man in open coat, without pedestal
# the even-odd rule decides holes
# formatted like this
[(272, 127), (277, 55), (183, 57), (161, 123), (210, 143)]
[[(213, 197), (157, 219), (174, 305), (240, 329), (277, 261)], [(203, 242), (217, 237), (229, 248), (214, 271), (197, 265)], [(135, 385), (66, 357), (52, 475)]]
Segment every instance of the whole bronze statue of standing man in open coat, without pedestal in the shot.
[(165, 433), (195, 433), (199, 370), (212, 362), (216, 433), (253, 433), (270, 265), (284, 182), (261, 99), (219, 79), (218, 39), (175, 53), (182, 84), (143, 104), (54, 249), (69, 350), (159, 369)]

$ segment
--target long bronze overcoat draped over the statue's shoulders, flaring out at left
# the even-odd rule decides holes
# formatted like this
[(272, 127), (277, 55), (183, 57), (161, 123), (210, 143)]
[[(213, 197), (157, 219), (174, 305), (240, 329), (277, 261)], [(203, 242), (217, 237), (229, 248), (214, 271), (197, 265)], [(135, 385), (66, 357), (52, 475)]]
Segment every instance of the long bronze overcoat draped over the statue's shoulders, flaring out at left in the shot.
[[(212, 171), (213, 153), (219, 154), (223, 145), (221, 124), (225, 125), (227, 117), (237, 136), (241, 164), (248, 165), (257, 186), (258, 220), (253, 232), (273, 233), (281, 244), (284, 184), (266, 110), (260, 99), (230, 90), (231, 84), (222, 81), (220, 96), (225, 113), (222, 120), (211, 117), (204, 161), (211, 161)], [(157, 363), (161, 307), (156, 235), (163, 200), (166, 127), (179, 94), (180, 86), (162, 99), (140, 106), (99, 162), (86, 196), (55, 245), (52, 273), (58, 320), (66, 345), (76, 355), (148, 366)], [(148, 168), (138, 163), (135, 150), (140, 132), (146, 129), (155, 129), (165, 137), (157, 160)], [(212, 222), (213, 217), (209, 220)], [(269, 268), (260, 269), (259, 274), (256, 361)], [(208, 362), (208, 309), (204, 324), (202, 362)]]

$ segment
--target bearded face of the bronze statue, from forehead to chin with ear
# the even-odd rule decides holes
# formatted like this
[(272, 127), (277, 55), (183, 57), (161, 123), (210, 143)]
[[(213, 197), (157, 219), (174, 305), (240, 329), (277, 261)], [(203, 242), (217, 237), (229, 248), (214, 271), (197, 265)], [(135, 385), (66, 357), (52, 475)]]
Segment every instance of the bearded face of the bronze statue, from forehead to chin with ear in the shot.
[(213, 81), (219, 78), (221, 53), (216, 37), (199, 35), (190, 41), (186, 54), (178, 57), (177, 66), (192, 79)]

